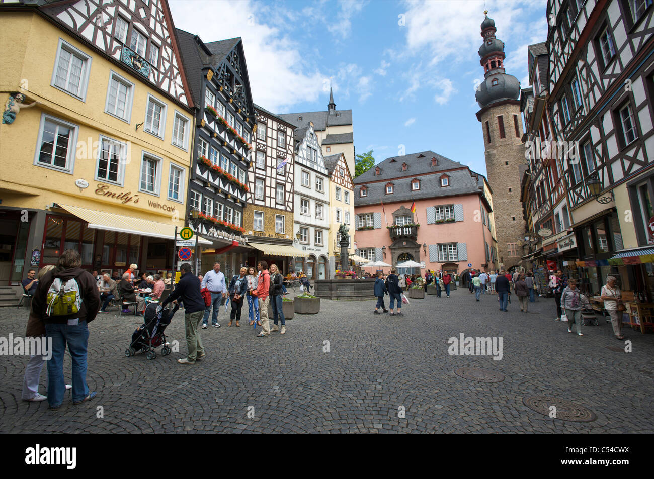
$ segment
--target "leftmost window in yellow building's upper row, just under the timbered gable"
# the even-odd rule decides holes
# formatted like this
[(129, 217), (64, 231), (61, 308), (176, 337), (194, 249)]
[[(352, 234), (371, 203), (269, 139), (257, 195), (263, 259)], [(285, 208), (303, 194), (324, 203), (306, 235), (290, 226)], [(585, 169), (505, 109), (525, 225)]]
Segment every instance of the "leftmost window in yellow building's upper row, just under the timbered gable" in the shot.
[(50, 84), (84, 101), (90, 67), (90, 56), (60, 39)]

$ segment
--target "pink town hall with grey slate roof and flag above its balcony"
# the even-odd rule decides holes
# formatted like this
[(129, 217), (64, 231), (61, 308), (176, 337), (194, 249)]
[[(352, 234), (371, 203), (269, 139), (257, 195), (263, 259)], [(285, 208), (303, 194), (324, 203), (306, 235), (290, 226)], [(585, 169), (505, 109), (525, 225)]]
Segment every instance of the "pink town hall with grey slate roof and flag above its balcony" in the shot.
[(422, 263), (401, 274), (498, 267), (486, 178), (434, 152), (387, 158), (355, 178), (354, 218), (358, 256), (393, 266)]

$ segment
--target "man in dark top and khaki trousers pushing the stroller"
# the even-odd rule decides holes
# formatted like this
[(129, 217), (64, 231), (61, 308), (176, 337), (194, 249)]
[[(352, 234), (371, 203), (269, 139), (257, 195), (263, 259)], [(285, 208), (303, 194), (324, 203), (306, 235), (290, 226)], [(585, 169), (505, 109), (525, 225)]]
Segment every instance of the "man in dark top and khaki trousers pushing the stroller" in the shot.
[[(180, 298), (184, 304), (184, 327), (186, 329), (186, 349), (188, 354), (182, 359), (177, 359), (180, 364), (195, 364), (205, 356), (202, 346), (202, 336), (198, 328), (205, 314), (205, 303), (200, 293), (200, 282), (198, 276), (191, 273), (191, 265), (182, 263), (182, 276), (175, 289), (163, 300), (161, 308), (175, 299)], [(159, 310), (159, 307), (157, 310)]]

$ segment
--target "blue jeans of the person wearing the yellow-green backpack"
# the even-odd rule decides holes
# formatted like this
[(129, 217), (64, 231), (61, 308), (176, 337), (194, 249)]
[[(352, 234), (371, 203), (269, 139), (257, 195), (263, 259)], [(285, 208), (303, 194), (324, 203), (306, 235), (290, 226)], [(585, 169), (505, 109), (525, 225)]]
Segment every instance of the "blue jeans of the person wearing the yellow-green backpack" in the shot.
[(60, 406), (66, 383), (63, 380), (63, 355), (66, 345), (73, 360), (73, 401), (81, 401), (88, 395), (86, 384), (86, 347), (88, 346), (88, 327), (86, 321), (76, 325), (46, 324), (46, 337), (52, 338), (52, 358), (48, 361), (48, 403)]

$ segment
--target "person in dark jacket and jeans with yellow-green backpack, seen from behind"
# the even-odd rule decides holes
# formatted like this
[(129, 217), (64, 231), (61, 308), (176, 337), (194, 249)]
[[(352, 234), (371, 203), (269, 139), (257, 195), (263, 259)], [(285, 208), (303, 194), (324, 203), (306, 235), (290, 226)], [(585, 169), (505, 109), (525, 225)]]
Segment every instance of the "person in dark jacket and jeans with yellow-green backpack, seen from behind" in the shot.
[(34, 314), (45, 323), (46, 338), (52, 342), (52, 357), (48, 361), (48, 403), (51, 409), (58, 409), (63, 403), (66, 346), (73, 363), (73, 404), (89, 401), (97, 394), (89, 391), (86, 384), (86, 355), (88, 323), (97, 315), (100, 295), (95, 278), (81, 266), (82, 258), (77, 250), (65, 250), (56, 269), (44, 274), (32, 299)]

